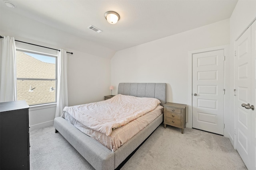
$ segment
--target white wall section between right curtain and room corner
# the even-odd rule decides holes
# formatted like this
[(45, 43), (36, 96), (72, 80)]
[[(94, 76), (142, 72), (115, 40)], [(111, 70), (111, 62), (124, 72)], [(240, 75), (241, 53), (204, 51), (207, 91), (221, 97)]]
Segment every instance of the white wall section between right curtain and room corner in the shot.
[(104, 100), (110, 95), (110, 59), (72, 52), (68, 57), (69, 106)]

